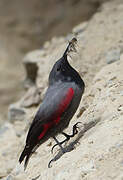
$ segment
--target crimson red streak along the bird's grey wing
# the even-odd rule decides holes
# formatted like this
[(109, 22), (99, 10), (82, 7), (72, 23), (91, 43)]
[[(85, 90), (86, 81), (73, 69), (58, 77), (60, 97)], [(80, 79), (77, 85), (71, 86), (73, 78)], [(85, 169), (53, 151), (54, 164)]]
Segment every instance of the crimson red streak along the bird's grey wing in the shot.
[(58, 124), (61, 118), (62, 113), (68, 108), (72, 98), (74, 95), (74, 90), (72, 88), (69, 88), (67, 91), (67, 94), (65, 96), (65, 98), (62, 100), (62, 102), (60, 103), (59, 107), (58, 107), (58, 111), (56, 112), (56, 114), (54, 115), (54, 120), (46, 123), (43, 125), (43, 131), (41, 132), (41, 134), (38, 136), (38, 139), (40, 140), (41, 138), (44, 137), (44, 135), (46, 134), (46, 132), (48, 131), (49, 128), (51, 128), (51, 126), (55, 123)]

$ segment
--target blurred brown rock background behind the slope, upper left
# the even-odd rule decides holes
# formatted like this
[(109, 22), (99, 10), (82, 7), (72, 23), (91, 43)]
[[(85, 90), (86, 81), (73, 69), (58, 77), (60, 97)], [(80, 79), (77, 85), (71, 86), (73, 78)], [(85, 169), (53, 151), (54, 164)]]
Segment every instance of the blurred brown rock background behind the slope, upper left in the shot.
[(41, 49), (44, 41), (53, 36), (66, 35), (76, 24), (88, 20), (101, 2), (0, 0), (0, 125), (7, 120), (8, 105), (24, 94), (25, 53)]

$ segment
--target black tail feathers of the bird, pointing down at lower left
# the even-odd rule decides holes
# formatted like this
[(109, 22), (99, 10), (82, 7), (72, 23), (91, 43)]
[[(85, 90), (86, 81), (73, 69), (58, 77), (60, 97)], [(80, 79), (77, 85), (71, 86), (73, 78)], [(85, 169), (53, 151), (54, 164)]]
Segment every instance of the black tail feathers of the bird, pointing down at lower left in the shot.
[(27, 164), (28, 164), (31, 154), (32, 154), (32, 148), (25, 146), (25, 148), (19, 158), (19, 162), (21, 164), (22, 161), (24, 160), (24, 158), (26, 157), (25, 162), (24, 162), (24, 170), (26, 170), (26, 167), (27, 167)]

